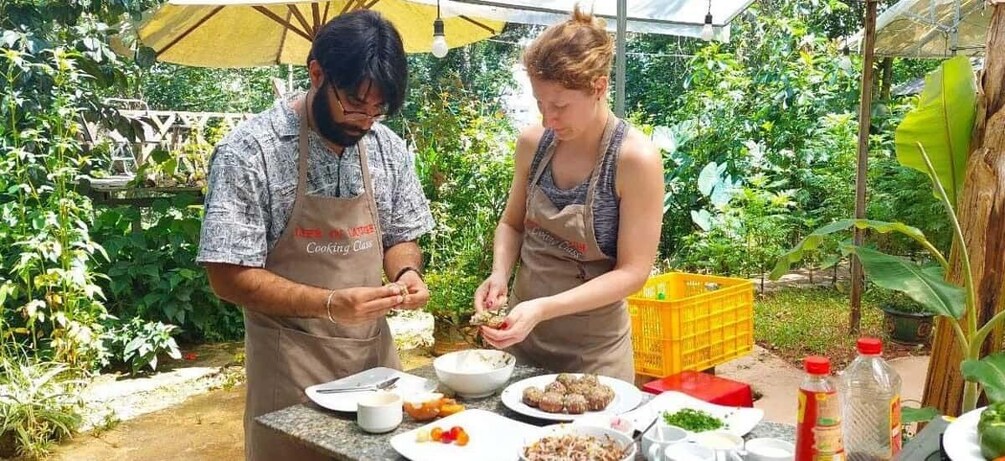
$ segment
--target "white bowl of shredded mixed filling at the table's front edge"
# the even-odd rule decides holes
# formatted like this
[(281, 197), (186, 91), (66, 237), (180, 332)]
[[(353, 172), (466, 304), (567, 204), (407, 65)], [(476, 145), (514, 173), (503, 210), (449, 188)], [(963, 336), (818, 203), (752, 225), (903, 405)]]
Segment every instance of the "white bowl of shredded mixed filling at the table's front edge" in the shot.
[(611, 428), (559, 424), (531, 437), (521, 461), (629, 461), (635, 458), (631, 437)]

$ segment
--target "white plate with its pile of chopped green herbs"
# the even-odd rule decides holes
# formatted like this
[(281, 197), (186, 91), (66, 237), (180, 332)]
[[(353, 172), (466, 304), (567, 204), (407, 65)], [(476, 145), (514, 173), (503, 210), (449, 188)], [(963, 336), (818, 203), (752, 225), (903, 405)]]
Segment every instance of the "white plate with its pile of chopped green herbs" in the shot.
[(662, 418), (667, 424), (689, 432), (721, 430), (743, 437), (764, 419), (764, 410), (724, 407), (683, 393), (668, 391), (621, 416), (631, 421), (636, 428), (649, 427), (654, 419)]

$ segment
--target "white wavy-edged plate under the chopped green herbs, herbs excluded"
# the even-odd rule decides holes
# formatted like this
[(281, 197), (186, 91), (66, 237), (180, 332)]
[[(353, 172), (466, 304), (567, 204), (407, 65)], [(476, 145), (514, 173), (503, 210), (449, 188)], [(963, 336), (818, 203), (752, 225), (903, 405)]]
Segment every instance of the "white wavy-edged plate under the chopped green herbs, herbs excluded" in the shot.
[(635, 429), (641, 431), (649, 427), (654, 419), (662, 417), (663, 412), (673, 413), (685, 408), (708, 412), (729, 425), (729, 429), (726, 429), (727, 432), (741, 437), (751, 432), (754, 426), (757, 426), (764, 418), (764, 410), (759, 408), (724, 407), (676, 391), (664, 392), (635, 411), (622, 416), (631, 420)]

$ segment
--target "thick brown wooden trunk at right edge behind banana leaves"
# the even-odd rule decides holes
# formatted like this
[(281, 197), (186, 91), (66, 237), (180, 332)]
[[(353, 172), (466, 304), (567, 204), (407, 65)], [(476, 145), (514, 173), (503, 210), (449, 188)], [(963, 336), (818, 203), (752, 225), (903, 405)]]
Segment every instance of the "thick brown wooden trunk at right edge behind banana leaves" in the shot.
[[(978, 79), (977, 118), (967, 177), (957, 206), (960, 226), (970, 252), (977, 290), (978, 325), (1002, 309), (1005, 291), (1005, 0), (992, 2), (984, 71)], [(958, 245), (953, 242), (949, 279), (963, 283)], [(966, 328), (966, 325), (964, 326)], [(990, 334), (983, 354), (1000, 350), (1000, 328)], [(952, 326), (939, 321), (929, 362), (923, 405), (946, 415), (959, 415), (963, 378)]]

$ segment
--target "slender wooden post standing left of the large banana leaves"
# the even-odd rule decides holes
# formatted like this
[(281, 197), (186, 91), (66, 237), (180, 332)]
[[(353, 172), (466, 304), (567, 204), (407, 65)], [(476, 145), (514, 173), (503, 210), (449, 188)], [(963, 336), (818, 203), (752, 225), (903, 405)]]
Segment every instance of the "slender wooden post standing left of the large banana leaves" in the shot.
[[(865, 6), (865, 48), (862, 54), (862, 97), (858, 107), (858, 171), (855, 175), (855, 218), (865, 218), (865, 181), (869, 164), (869, 127), (872, 125), (872, 56), (876, 41), (876, 0)], [(865, 239), (862, 229), (855, 228), (855, 245)], [(862, 263), (858, 256), (851, 256), (851, 315), (848, 327), (851, 334), (858, 334), (862, 319)]]

